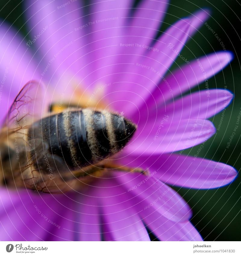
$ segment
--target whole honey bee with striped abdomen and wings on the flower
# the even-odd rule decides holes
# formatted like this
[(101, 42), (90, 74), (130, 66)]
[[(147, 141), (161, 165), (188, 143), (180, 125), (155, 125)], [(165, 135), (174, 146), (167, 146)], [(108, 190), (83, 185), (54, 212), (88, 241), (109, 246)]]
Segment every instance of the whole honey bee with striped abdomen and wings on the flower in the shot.
[(28, 82), (7, 113), (0, 134), (2, 182), (62, 193), (118, 169), (106, 160), (125, 147), (136, 125), (106, 110), (73, 107), (48, 112), (42, 109), (44, 93), (42, 83)]

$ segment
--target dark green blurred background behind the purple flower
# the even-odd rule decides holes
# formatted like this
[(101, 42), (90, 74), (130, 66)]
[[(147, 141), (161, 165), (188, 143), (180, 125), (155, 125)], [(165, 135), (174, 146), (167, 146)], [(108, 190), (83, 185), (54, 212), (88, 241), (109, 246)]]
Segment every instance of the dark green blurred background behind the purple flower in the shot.
[[(138, 1), (136, 1), (138, 3)], [(225, 88), (234, 93), (234, 100), (227, 107), (225, 112), (219, 113), (210, 120), (216, 127), (222, 125), (217, 133), (209, 139), (204, 149), (199, 153), (200, 157), (220, 161), (234, 166), (238, 171), (241, 167), (240, 153), (241, 144), (241, 121), (232, 139), (230, 147), (226, 148), (236, 125), (237, 116), (241, 110), (241, 69), (239, 55), (241, 53), (241, 4), (233, 0), (171, 0), (167, 10), (164, 23), (161, 26), (160, 33), (170, 24), (173, 24), (178, 18), (188, 16), (190, 13), (200, 8), (208, 8), (211, 16), (207, 21), (208, 25), (221, 38), (223, 46), (207, 26), (203, 26), (182, 51), (182, 55), (187, 60), (198, 58), (199, 56), (211, 53), (213, 51), (222, 51), (223, 47), (234, 54), (234, 60), (231, 65), (218, 73), (215, 77), (208, 79), (209, 88)], [(0, 18), (6, 20), (19, 30), (23, 35), (27, 35), (25, 25), (23, 2), (17, 0), (0, 1)], [(27, 40), (30, 38), (27, 38)], [(182, 65), (183, 61), (177, 58), (175, 65)], [(175, 66), (172, 67), (174, 69)], [(205, 89), (205, 83), (199, 84), (195, 90)], [(199, 146), (192, 150), (186, 150), (186, 154), (196, 154)], [(183, 196), (193, 210), (192, 223), (201, 233), (206, 241), (240, 241), (240, 220), (241, 220), (241, 177), (230, 185), (219, 189), (210, 190), (192, 190), (175, 187)], [(152, 235), (151, 235), (152, 236)], [(152, 236), (155, 240), (155, 237)]]

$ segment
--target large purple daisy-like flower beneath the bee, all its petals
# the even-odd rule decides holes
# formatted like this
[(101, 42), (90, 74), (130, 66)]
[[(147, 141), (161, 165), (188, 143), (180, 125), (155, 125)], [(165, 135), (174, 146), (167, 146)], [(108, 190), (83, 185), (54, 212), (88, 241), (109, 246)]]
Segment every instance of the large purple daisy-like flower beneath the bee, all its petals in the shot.
[[(164, 241), (202, 240), (189, 222), (188, 204), (166, 183), (209, 189), (236, 177), (226, 164), (183, 154), (202, 148), (215, 133), (207, 119), (233, 98), (223, 89), (182, 96), (204, 81), (208, 88), (208, 79), (232, 59), (227, 51), (192, 61), (181, 55), (209, 12), (181, 19), (153, 40), (165, 1), (141, 1), (134, 9), (129, 0), (93, 1), (86, 8), (68, 3), (26, 1), (28, 41), (1, 24), (0, 104), (9, 107), (23, 85), (37, 79), (48, 86), (46, 104), (77, 99), (116, 111), (138, 129), (115, 163), (148, 169), (149, 176), (110, 171), (66, 194), (1, 188), (0, 240), (146, 241), (146, 228)], [(183, 65), (168, 73), (177, 58)]]

